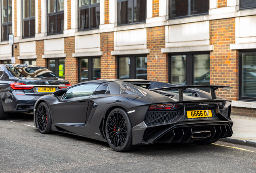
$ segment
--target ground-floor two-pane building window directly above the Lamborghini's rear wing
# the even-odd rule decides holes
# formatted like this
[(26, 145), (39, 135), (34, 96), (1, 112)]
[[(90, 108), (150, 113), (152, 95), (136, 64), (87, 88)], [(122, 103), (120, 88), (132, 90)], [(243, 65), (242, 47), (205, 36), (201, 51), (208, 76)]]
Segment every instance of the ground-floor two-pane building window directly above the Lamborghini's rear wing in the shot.
[(186, 85), (210, 84), (209, 52), (187, 52), (169, 55), (169, 82)]

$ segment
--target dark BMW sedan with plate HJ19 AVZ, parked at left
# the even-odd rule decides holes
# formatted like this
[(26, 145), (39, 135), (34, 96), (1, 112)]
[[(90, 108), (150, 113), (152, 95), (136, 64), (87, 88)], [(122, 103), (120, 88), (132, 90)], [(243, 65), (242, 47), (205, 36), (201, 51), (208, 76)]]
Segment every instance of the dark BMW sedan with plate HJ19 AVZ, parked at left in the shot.
[(10, 112), (31, 113), (41, 96), (69, 86), (68, 80), (45, 67), (0, 64), (0, 119)]

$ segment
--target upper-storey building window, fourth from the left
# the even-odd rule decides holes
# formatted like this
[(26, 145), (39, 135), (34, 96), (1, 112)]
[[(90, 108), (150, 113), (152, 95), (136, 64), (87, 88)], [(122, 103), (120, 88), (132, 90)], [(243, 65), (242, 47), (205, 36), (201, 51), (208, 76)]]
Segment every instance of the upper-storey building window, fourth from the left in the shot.
[(99, 28), (99, 1), (100, 0), (79, 0), (78, 30)]

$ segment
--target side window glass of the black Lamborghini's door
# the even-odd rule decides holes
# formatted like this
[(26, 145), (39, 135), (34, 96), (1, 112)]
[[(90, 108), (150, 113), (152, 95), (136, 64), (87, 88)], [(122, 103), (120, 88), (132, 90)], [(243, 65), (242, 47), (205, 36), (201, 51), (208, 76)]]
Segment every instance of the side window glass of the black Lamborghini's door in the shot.
[(75, 97), (84, 97), (93, 95), (94, 91), (99, 87), (98, 84), (83, 84), (69, 89), (63, 96), (63, 99), (72, 99)]

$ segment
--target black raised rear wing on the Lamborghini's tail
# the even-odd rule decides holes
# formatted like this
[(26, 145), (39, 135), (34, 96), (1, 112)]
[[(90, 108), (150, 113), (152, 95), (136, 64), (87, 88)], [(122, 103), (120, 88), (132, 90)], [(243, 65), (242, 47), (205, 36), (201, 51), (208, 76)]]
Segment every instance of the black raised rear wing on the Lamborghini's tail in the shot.
[(233, 89), (233, 87), (222, 86), (222, 85), (190, 85), (190, 86), (185, 85), (185, 86), (177, 86), (177, 87), (155, 88), (155, 89), (150, 89), (150, 91), (178, 89), (179, 90), (179, 100), (183, 101), (183, 92), (182, 91), (189, 89), (189, 88), (210, 88), (213, 100), (217, 99), (215, 90), (217, 90), (217, 89), (225, 89), (225, 90)]

